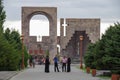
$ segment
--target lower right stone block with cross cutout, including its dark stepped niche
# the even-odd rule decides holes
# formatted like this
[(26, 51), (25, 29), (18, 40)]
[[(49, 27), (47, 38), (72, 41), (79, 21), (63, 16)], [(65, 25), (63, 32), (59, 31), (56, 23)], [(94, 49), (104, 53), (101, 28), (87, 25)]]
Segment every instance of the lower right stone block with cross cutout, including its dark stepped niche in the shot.
[[(64, 36), (64, 19), (60, 20), (60, 52), (79, 59), (80, 35), (83, 35), (83, 55), (89, 43), (95, 43), (100, 38), (100, 19), (66, 19), (66, 35)], [(84, 33), (83, 33), (84, 32)], [(78, 34), (79, 33), (79, 34)], [(76, 56), (77, 55), (77, 56)]]

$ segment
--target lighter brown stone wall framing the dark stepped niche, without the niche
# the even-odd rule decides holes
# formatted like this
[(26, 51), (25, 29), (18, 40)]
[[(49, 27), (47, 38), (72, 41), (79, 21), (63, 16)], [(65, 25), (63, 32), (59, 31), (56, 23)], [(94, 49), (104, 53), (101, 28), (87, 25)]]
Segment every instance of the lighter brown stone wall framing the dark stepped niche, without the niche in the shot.
[[(75, 31), (85, 31), (91, 41), (91, 43), (95, 43), (100, 38), (100, 19), (78, 19), (78, 18), (67, 18), (66, 19), (66, 36), (63, 36), (63, 22), (64, 19), (60, 20), (60, 29), (61, 29), (61, 37), (60, 37), (60, 46), (61, 46), (61, 54), (65, 52), (69, 41), (71, 40)], [(78, 36), (79, 37), (79, 36)], [(67, 52), (65, 52), (67, 53)]]

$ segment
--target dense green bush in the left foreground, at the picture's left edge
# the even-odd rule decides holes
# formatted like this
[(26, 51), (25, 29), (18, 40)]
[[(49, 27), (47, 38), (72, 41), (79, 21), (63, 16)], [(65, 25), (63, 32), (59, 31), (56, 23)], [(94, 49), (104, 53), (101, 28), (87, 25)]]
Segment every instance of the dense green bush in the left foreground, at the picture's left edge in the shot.
[(18, 69), (18, 53), (5, 38), (0, 38), (0, 71)]

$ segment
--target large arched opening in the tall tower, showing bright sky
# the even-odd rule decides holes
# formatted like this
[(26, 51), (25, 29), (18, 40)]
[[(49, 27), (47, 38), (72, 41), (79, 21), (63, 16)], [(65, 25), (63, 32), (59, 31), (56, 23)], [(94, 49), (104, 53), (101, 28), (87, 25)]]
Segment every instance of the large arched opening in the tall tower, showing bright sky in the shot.
[(36, 36), (37, 42), (42, 41), (42, 36), (49, 36), (49, 20), (44, 15), (34, 15), (30, 19), (29, 34)]

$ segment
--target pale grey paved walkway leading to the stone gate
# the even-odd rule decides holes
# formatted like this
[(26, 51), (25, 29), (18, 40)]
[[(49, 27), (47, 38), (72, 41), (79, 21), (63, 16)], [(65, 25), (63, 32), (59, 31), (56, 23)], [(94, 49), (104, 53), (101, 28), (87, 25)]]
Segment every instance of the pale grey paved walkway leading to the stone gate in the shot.
[(44, 72), (44, 65), (37, 65), (35, 68), (28, 68), (10, 80), (102, 80), (98, 77), (92, 77), (82, 70), (77, 69), (74, 65), (71, 72), (54, 72), (53, 65), (50, 65), (50, 73)]

